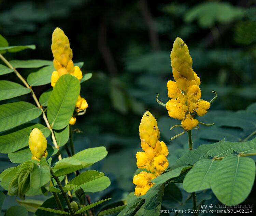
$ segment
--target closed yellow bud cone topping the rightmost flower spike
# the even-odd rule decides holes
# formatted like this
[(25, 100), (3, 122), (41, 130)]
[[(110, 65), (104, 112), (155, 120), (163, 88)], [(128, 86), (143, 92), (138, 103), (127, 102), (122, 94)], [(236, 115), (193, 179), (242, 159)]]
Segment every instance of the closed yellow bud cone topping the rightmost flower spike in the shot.
[(171, 51), (171, 65), (172, 70), (175, 71), (175, 80), (179, 78), (177, 72), (181, 76), (186, 77), (188, 81), (191, 81), (194, 78), (193, 69), (191, 68), (192, 58), (189, 55), (187, 45), (180, 37), (177, 37), (173, 43)]

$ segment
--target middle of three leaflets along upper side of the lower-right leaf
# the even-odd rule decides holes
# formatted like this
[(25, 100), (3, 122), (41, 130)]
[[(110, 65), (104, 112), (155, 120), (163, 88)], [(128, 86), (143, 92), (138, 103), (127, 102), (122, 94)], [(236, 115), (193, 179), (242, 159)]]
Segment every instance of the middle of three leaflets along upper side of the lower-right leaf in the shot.
[(224, 157), (226, 155), (232, 154), (233, 142), (223, 142), (222, 144), (211, 149), (207, 154), (211, 157)]

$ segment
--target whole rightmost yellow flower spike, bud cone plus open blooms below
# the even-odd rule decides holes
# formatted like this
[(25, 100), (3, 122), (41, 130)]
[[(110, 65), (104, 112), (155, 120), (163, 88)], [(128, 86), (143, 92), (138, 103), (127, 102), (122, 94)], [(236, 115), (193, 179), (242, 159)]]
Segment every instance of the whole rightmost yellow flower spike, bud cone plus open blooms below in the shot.
[(210, 103), (200, 99), (200, 78), (191, 67), (192, 58), (187, 45), (179, 37), (173, 43), (171, 65), (175, 81), (167, 82), (168, 97), (172, 99), (166, 103), (166, 109), (170, 117), (181, 120), (185, 130), (191, 130), (198, 125), (195, 114), (202, 116), (207, 113)]

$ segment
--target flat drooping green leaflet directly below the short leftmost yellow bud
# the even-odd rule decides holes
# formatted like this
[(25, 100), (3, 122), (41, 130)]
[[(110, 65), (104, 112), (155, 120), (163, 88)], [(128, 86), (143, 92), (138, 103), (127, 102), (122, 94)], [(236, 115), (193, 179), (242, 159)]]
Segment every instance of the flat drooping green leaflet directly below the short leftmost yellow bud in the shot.
[(35, 164), (30, 173), (30, 187), (38, 189), (47, 184), (51, 179), (50, 169), (44, 157), (41, 158), (39, 164)]

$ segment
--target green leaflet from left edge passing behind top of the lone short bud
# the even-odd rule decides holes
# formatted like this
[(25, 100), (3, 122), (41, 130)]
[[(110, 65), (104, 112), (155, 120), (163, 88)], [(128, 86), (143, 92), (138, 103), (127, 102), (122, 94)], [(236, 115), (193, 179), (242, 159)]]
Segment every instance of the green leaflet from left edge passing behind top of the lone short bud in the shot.
[(28, 146), (29, 135), (33, 128), (38, 128), (43, 132), (44, 137), (48, 137), (51, 131), (39, 123), (27, 123), (4, 132), (0, 136), (0, 152), (11, 153)]

